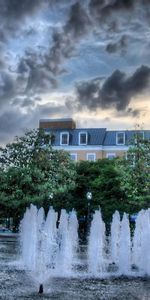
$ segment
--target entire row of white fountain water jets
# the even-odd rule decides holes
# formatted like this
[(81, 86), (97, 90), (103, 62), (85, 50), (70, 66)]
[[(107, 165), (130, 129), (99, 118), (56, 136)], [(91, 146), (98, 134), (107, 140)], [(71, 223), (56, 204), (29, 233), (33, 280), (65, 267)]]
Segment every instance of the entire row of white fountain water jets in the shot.
[(21, 260), (38, 282), (39, 293), (43, 293), (49, 278), (150, 276), (149, 209), (138, 214), (132, 238), (128, 215), (124, 213), (121, 220), (116, 211), (109, 239), (101, 211), (95, 211), (83, 262), (79, 256), (78, 221), (74, 210), (68, 214), (62, 209), (58, 221), (53, 208), (45, 217), (43, 208), (38, 210), (31, 205), (20, 228)]

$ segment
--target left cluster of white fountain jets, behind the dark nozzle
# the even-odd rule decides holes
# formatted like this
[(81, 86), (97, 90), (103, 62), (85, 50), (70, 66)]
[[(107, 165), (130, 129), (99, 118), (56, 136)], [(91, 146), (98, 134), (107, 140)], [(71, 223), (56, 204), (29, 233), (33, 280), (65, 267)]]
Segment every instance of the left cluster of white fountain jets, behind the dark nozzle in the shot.
[(59, 227), (57, 213), (50, 208), (47, 218), (43, 208), (34, 205), (25, 212), (20, 226), (22, 261), (36, 281), (45, 282), (49, 276), (71, 274), (78, 247), (76, 212), (61, 211)]

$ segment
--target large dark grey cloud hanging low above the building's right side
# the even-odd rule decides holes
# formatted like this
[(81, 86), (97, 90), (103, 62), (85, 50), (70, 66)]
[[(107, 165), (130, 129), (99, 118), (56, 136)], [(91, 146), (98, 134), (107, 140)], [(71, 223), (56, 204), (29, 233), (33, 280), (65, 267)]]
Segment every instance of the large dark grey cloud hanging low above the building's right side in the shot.
[(116, 70), (101, 85), (99, 80), (77, 85), (77, 101), (80, 107), (93, 111), (97, 108), (126, 110), (132, 97), (150, 87), (150, 68), (141, 66), (131, 76)]

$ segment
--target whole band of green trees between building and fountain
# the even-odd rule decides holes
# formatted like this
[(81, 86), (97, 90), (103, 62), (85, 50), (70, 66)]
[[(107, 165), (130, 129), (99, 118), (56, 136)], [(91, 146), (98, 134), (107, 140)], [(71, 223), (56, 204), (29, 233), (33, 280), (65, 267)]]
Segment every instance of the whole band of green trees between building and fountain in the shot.
[(0, 217), (17, 222), (30, 203), (46, 212), (74, 208), (79, 218), (100, 207), (106, 222), (115, 210), (132, 214), (149, 207), (150, 141), (137, 135), (127, 158), (74, 163), (41, 130), (16, 137), (0, 148)]

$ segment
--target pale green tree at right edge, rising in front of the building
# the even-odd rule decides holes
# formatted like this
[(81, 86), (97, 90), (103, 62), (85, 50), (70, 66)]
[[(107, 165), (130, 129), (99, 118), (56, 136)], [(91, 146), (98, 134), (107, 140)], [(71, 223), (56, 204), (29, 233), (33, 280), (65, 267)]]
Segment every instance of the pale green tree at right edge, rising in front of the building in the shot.
[(121, 188), (134, 209), (150, 203), (150, 140), (136, 132), (130, 141), (127, 158), (118, 159)]

